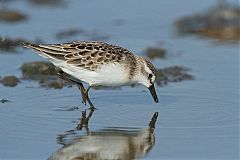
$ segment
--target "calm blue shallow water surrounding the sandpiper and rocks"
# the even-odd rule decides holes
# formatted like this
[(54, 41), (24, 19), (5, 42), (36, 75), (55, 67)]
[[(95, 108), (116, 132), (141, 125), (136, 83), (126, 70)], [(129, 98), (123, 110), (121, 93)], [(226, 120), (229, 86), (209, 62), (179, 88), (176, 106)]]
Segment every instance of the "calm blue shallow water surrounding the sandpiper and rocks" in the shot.
[[(67, 7), (56, 8), (31, 6), (26, 1), (5, 4), (25, 11), (29, 20), (14, 25), (1, 23), (0, 34), (58, 43), (55, 33), (79, 27), (110, 35), (108, 42), (137, 54), (142, 54), (148, 46), (161, 44), (168, 49), (169, 56), (153, 63), (157, 67), (191, 68), (195, 79), (157, 87), (158, 104), (142, 86), (91, 90), (97, 110), (82, 130), (76, 126), (85, 107), (76, 87), (44, 89), (33, 81), (22, 81), (15, 88), (0, 85), (0, 99), (11, 101), (0, 104), (0, 159), (47, 159), (63, 148), (62, 143), (78, 144), (79, 139), (81, 154), (85, 153), (84, 146), (89, 145), (87, 149), (93, 147), (98, 154), (112, 153), (109, 157), (239, 159), (238, 45), (195, 36), (177, 37), (173, 28), (176, 18), (204, 10), (216, 1), (69, 2)], [(114, 25), (116, 19), (123, 24)], [(61, 41), (90, 39), (79, 35)], [(22, 63), (34, 60), (42, 58), (31, 50), (0, 54), (0, 76), (20, 77)], [(149, 138), (142, 135), (149, 131), (148, 124), (155, 112), (158, 118), (155, 129), (151, 130), (151, 143), (147, 143)], [(61, 135), (64, 141), (59, 141)], [(99, 144), (104, 147), (95, 147)], [(131, 152), (124, 152), (127, 147)], [(141, 149), (138, 151), (137, 147)], [(109, 148), (114, 152), (108, 152)]]

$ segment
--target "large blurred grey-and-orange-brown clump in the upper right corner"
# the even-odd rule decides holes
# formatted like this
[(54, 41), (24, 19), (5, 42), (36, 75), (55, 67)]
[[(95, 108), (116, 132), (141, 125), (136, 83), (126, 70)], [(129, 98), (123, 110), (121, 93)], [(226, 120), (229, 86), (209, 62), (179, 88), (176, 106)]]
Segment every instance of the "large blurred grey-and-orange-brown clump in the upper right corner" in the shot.
[(240, 6), (221, 1), (203, 13), (186, 16), (175, 22), (180, 35), (198, 34), (225, 42), (240, 39)]

